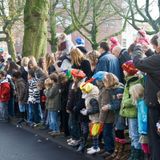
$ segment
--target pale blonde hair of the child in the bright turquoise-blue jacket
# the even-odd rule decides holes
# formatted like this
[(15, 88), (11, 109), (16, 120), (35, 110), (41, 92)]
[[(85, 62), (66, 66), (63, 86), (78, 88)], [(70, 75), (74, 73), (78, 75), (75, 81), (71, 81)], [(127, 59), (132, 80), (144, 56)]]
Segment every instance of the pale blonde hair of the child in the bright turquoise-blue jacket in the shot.
[(139, 98), (144, 97), (144, 87), (140, 83), (135, 84), (130, 87), (129, 93), (132, 96), (133, 102), (136, 103)]

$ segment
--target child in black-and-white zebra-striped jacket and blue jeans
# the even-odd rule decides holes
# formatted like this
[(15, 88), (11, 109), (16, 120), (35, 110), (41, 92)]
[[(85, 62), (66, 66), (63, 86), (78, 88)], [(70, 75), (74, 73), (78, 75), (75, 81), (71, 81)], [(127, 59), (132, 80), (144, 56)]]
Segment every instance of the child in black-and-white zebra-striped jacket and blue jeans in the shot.
[(35, 72), (32, 69), (28, 72), (28, 85), (28, 121), (31, 126), (36, 126), (36, 124), (41, 121), (40, 90), (38, 87), (38, 80), (35, 77)]

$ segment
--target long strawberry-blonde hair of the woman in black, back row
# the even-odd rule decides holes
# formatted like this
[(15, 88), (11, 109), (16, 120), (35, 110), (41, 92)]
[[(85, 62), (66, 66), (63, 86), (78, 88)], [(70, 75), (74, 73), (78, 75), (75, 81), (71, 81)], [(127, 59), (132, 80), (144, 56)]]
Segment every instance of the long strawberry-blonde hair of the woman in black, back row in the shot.
[(78, 49), (74, 48), (70, 52), (72, 64), (81, 65), (81, 62), (85, 60), (84, 54)]

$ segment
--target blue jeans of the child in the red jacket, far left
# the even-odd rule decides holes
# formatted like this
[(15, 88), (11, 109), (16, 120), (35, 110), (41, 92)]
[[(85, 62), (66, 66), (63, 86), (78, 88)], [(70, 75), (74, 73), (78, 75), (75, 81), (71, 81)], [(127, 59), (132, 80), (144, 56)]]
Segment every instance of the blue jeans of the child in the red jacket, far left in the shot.
[(8, 120), (8, 102), (0, 102), (0, 120)]

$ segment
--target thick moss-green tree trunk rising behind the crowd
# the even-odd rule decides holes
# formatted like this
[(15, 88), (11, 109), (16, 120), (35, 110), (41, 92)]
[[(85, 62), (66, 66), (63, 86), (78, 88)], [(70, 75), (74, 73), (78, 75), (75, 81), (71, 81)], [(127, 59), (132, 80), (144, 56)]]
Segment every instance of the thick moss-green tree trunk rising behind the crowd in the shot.
[(47, 52), (48, 0), (27, 0), (24, 8), (23, 56), (40, 56)]

